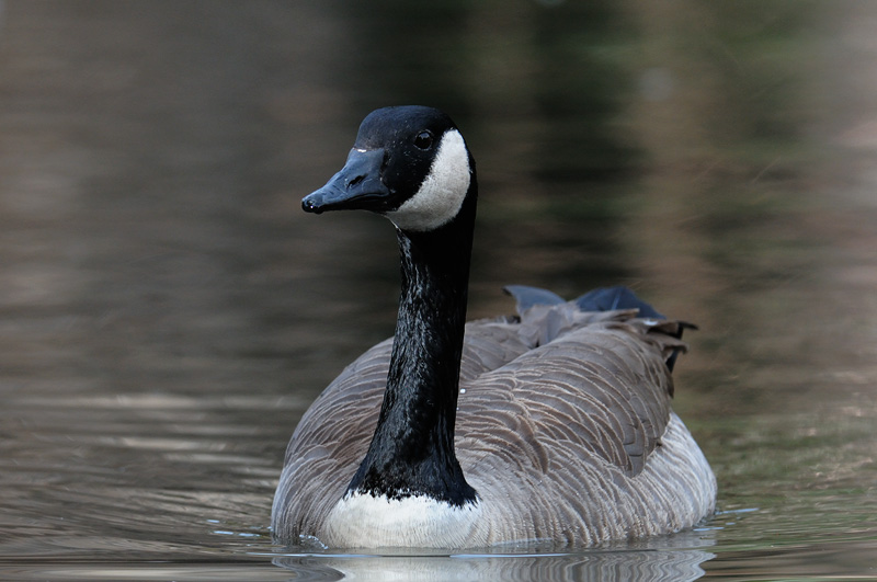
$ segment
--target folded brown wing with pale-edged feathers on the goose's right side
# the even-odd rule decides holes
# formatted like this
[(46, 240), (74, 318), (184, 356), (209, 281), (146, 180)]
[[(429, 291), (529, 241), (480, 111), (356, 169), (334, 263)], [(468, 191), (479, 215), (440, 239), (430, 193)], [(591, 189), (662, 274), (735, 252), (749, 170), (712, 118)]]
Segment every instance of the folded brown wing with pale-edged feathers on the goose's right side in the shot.
[(645, 324), (596, 322), (462, 383), (458, 456), (499, 440), (505, 449), (520, 446), (509, 452), (520, 458), (539, 447), (571, 449), (638, 475), (670, 418), (672, 379), (661, 353)]

